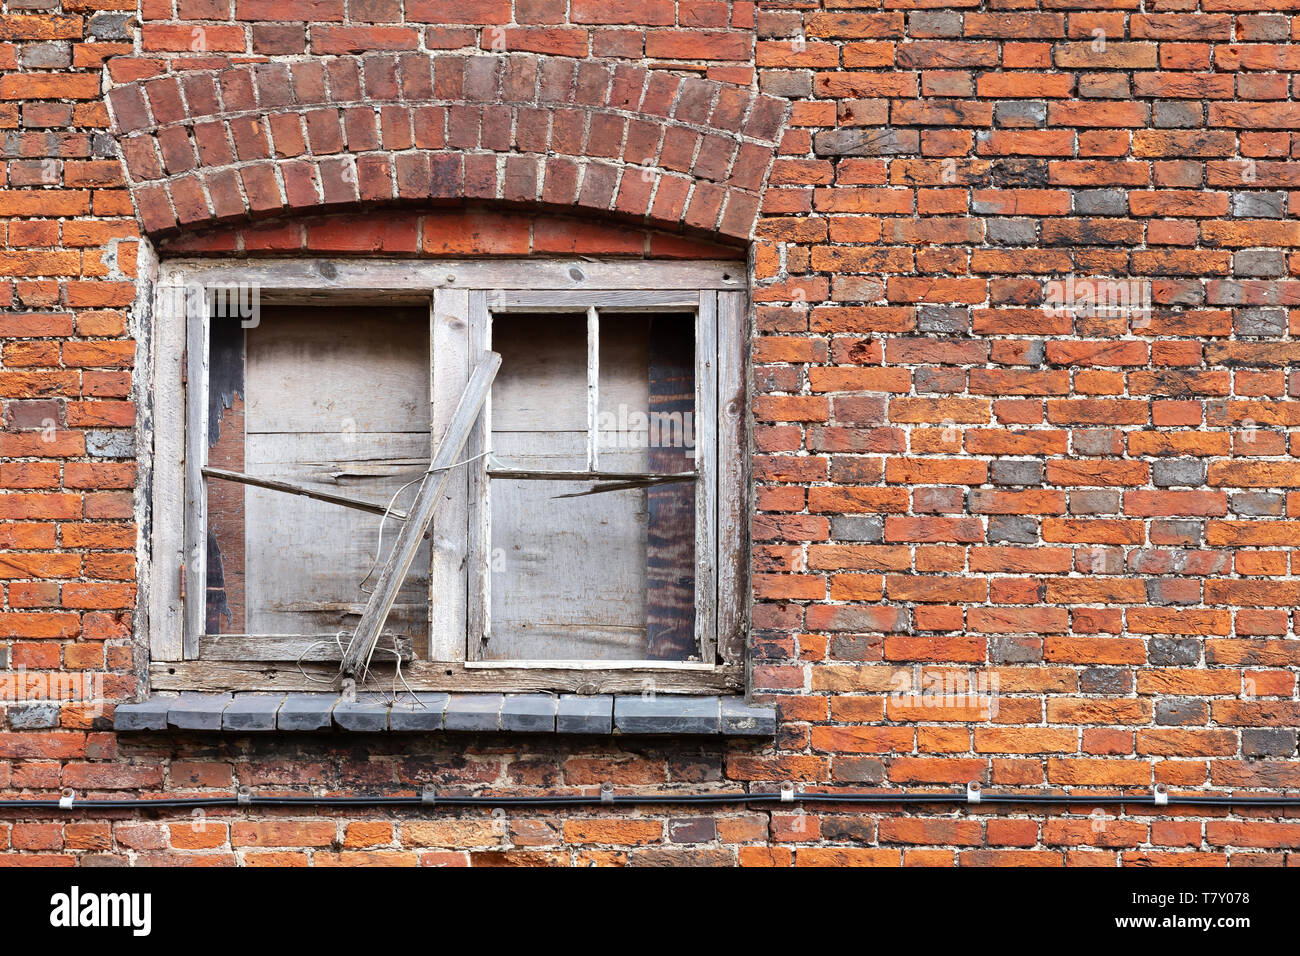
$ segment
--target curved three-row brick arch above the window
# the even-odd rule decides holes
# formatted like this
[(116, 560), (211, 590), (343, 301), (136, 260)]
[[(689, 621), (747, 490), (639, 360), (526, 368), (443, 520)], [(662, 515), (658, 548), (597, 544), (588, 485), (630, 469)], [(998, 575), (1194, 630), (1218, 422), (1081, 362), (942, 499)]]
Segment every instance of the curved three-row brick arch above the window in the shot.
[(143, 229), (356, 204), (577, 207), (748, 239), (788, 103), (560, 56), (365, 53), (108, 95)]

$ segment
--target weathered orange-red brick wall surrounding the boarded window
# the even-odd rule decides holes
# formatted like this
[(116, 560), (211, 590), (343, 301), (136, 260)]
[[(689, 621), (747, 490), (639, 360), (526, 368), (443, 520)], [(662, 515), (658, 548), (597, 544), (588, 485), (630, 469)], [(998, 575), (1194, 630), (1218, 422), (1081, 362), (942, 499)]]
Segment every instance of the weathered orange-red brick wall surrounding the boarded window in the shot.
[[(1295, 4), (1269, 5), (318, 0), (300, 22), (261, 0), (8, 3), (0, 675), (22, 696), (69, 674), (109, 700), (138, 689), (143, 233), (162, 255), (751, 241), (751, 654), (781, 726), (766, 747), (358, 748), (117, 737), (82, 705), (25, 701), (0, 706), (0, 793), (978, 779), (1079, 797), (214, 812), (203, 830), (5, 812), (0, 862), (1294, 861), (1282, 810), (1087, 803), (1300, 786), (1300, 27)], [(532, 86), (512, 85), (520, 62)], [(428, 90), (407, 83), (422, 66)], [(543, 79), (564, 69), (558, 104)], [(576, 116), (521, 142), (526, 111)]]

